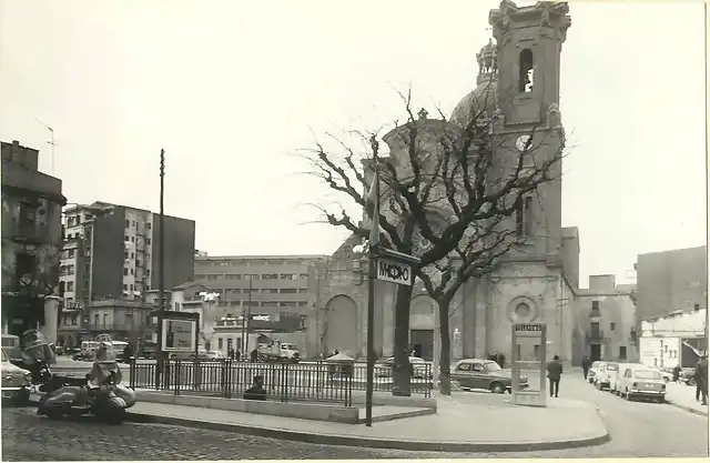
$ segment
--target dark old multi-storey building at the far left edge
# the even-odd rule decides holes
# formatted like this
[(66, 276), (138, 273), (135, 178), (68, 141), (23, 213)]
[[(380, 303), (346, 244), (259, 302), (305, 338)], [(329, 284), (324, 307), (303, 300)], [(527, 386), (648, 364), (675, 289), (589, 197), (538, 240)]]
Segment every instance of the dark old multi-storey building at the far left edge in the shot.
[(2, 142), (2, 332), (41, 328), (57, 339), (61, 180), (40, 172), (39, 151)]

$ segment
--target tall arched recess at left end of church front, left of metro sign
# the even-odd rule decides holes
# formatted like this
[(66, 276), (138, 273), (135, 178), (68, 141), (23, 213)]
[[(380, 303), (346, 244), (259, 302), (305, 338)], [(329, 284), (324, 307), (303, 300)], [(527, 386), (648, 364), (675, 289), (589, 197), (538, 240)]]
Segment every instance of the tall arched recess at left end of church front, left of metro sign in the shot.
[(357, 343), (357, 304), (346, 295), (336, 295), (326, 304), (323, 326), (324, 350), (331, 354), (336, 349), (348, 355), (359, 351)]

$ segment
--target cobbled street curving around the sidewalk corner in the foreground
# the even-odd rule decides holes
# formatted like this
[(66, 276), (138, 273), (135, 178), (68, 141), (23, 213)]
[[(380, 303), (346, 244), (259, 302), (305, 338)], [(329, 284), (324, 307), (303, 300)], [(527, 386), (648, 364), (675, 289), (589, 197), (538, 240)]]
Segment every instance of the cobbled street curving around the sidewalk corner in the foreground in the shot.
[[(34, 409), (27, 407), (3, 410), (2, 460), (708, 456), (707, 417), (667, 404), (627, 402), (608, 392), (597, 391), (584, 383), (580, 376), (581, 373), (567, 373), (560, 384), (560, 394), (587, 400), (601, 409), (605, 423), (612, 435), (611, 442), (604, 445), (526, 453), (405, 452), (315, 445), (154, 424), (124, 423), (111, 426), (91, 417), (54, 422), (37, 416)], [(471, 416), (470, 425), (476, 424), (475, 416)]]

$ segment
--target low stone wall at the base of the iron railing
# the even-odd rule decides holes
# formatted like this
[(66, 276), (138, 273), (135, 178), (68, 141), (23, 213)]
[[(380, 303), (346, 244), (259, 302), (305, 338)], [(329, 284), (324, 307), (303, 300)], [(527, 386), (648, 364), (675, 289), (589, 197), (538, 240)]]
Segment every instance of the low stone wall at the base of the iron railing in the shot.
[(200, 406), (203, 409), (230, 410), (233, 412), (297, 417), (302, 420), (327, 421), (357, 424), (358, 409), (321, 403), (281, 403), (271, 401), (247, 401), (244, 399), (205, 397), (199, 395), (174, 395), (172, 393), (136, 391), (138, 400), (171, 405)]

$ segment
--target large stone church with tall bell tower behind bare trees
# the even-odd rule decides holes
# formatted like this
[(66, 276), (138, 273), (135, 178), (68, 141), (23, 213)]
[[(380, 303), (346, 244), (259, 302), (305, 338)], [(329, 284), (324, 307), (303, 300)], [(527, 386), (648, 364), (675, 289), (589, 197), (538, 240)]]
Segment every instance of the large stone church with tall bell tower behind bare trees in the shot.
[[(503, 1), (491, 10), (491, 40), (476, 56), (477, 87), (459, 102), (448, 120), (426, 119), (415, 123), (420, 131), (460, 130), (469, 114), (481, 109), (496, 118), (491, 127), (510, 143), (499, 154), (518, 154), (521, 135), (535, 130), (541, 137), (534, 157), (556, 155), (564, 147), (565, 132), (559, 109), (561, 48), (570, 26), (567, 3), (538, 2), (517, 7)], [(383, 140), (389, 157), (406, 155), (395, 128)], [(518, 148), (518, 150), (521, 150)], [(548, 356), (562, 362), (572, 359), (575, 314), (572, 300), (579, 285), (579, 234), (561, 227), (561, 163), (555, 180), (526, 197), (511, 227), (525, 234), (521, 249), (506, 254), (499, 269), (486, 278), (473, 279), (452, 303), (449, 326), (452, 358), (484, 358), (503, 353), (510, 359), (511, 325), (518, 322), (547, 324)], [(367, 278), (366, 264), (356, 252), (361, 239), (351, 236), (318, 271), (316, 309), (310, 319), (308, 345), (313, 353), (338, 350), (353, 356), (366, 355)], [(375, 351), (393, 354), (394, 302), (396, 288), (376, 283)], [(436, 303), (415, 284), (410, 306), (409, 343), (417, 355), (438, 356), (438, 310)], [(518, 349), (520, 349), (518, 346)], [(535, 350), (539, 349), (536, 346)], [(534, 352), (519, 352), (524, 358)]]

